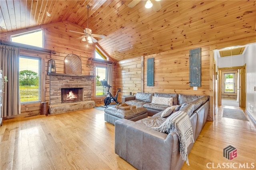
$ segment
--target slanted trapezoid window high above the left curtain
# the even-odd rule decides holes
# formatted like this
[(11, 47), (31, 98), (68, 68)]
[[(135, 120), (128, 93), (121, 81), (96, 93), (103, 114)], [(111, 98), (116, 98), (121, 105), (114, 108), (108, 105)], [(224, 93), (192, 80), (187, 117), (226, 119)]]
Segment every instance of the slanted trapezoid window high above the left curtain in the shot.
[(11, 36), (11, 41), (36, 47), (43, 47), (43, 30), (38, 29), (27, 33), (13, 35)]

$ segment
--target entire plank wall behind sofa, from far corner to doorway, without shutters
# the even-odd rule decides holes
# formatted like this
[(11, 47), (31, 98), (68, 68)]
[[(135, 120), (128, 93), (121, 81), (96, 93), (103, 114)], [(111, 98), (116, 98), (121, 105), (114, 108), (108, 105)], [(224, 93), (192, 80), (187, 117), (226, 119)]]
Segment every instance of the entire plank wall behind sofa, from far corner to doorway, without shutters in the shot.
[[(202, 47), (201, 87), (198, 87), (198, 90), (193, 90), (193, 87), (189, 86), (189, 50), (188, 48), (186, 51), (174, 53), (168, 51), (144, 56), (143, 59), (136, 57), (120, 61), (115, 66), (114, 84), (116, 88), (122, 88), (122, 95), (128, 95), (130, 92), (210, 95), (209, 47)], [(152, 57), (154, 57), (154, 86), (147, 86), (147, 59)]]

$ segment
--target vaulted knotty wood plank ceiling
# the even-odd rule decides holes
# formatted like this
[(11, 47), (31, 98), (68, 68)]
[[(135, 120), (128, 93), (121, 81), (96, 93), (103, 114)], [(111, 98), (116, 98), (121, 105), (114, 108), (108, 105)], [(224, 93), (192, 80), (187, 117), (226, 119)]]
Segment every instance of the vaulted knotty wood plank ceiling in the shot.
[(255, 0), (162, 0), (158, 12), (146, 9), (144, 0), (133, 8), (127, 6), (130, 2), (1, 0), (0, 33), (59, 21), (70, 21), (85, 28), (86, 5), (90, 5), (89, 28), (94, 34), (106, 35), (98, 39), (98, 45), (114, 61), (122, 61), (184, 46), (239, 39), (246, 33), (255, 33), (256, 29)]

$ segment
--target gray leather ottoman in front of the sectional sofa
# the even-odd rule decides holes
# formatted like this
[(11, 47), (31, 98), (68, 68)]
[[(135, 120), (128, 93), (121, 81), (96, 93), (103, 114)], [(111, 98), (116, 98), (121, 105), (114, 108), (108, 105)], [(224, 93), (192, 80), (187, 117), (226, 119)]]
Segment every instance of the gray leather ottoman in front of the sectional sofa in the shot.
[(108, 107), (104, 110), (105, 121), (115, 125), (115, 121), (119, 119), (129, 119), (137, 121), (148, 117), (147, 109), (144, 107), (122, 110), (116, 107)]

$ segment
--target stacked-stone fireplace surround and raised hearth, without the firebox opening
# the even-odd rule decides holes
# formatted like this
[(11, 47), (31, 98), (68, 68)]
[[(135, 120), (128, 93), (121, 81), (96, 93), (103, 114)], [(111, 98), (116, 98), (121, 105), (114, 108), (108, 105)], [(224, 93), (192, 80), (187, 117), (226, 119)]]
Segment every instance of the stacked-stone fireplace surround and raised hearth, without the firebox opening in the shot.
[[(91, 101), (92, 76), (50, 74), (50, 114), (65, 113), (95, 107)], [(62, 103), (62, 88), (83, 88), (82, 101)]]

